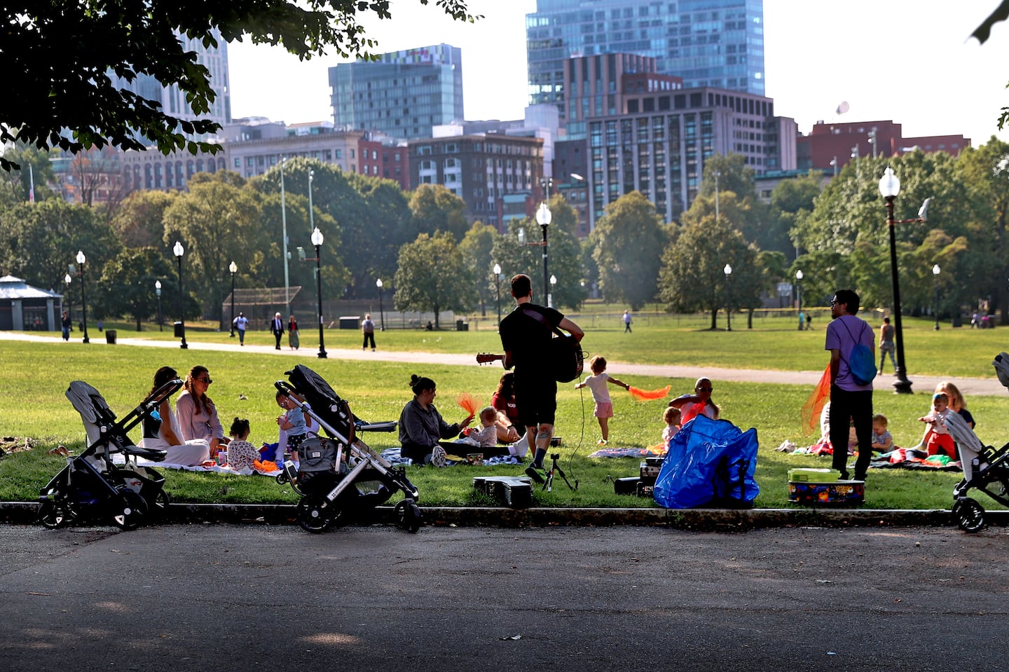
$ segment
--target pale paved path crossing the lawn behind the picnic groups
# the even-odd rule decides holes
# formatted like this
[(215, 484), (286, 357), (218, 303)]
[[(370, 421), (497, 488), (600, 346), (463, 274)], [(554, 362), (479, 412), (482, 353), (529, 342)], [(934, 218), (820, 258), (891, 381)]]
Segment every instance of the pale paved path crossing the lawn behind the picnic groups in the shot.
[[(52, 343), (51, 336), (37, 336), (20, 332), (0, 331), (0, 340), (34, 341), (40, 343)], [(99, 344), (98, 339), (92, 341), (97, 347), (105, 345)], [(144, 338), (118, 338), (117, 343), (122, 346), (140, 347), (162, 347), (179, 348), (176, 341), (148, 340)], [(220, 350), (233, 352), (238, 349), (236, 343), (203, 343), (189, 342), (190, 350)], [(243, 347), (244, 350), (271, 354), (278, 357), (304, 357), (305, 353), (300, 350), (291, 350), (285, 347), (276, 350), (270, 345), (252, 345)], [(306, 348), (309, 350), (309, 348)], [(379, 350), (368, 352), (357, 349), (327, 348), (326, 353), (330, 359), (371, 359), (375, 361), (400, 361), (416, 362), (423, 364), (447, 364), (467, 366), (474, 364), (471, 354), (452, 354), (445, 352), (414, 352), (405, 350)], [(657, 377), (672, 378), (697, 378), (701, 375), (713, 380), (732, 380), (734, 382), (773, 382), (777, 384), (798, 384), (813, 386), (819, 381), (822, 371), (778, 371), (760, 370), (746, 368), (715, 368), (711, 366), (685, 366), (685, 365), (661, 365), (661, 364), (627, 364), (610, 361), (606, 367), (613, 375), (650, 375)], [(994, 369), (993, 369), (994, 376)], [(978, 395), (987, 397), (1001, 397), (1006, 395), (1006, 388), (998, 381), (998, 378), (940, 378), (934, 375), (911, 375), (914, 383), (913, 389), (917, 393), (930, 393), (940, 380), (951, 380), (961, 393), (966, 397)], [(894, 381), (893, 375), (880, 375), (876, 378), (876, 389), (886, 389)]]

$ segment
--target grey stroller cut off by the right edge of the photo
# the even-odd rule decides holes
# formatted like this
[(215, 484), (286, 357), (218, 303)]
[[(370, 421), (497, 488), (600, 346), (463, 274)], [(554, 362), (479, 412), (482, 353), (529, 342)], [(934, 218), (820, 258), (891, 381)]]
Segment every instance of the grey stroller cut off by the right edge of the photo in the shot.
[[(992, 362), (999, 381), (1009, 387), (1009, 354), (1002, 352)], [(956, 501), (952, 518), (965, 532), (978, 532), (985, 527), (985, 510), (967, 496), (977, 488), (999, 503), (1009, 507), (1009, 443), (999, 449), (985, 446), (970, 425), (956, 413), (946, 418), (946, 429), (957, 442), (964, 479), (952, 489)], [(990, 489), (1000, 486), (998, 489)]]

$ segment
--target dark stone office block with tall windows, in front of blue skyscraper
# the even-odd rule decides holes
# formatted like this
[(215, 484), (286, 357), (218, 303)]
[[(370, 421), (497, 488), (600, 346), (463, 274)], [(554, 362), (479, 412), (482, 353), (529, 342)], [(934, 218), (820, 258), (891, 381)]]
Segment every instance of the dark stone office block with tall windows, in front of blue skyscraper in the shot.
[(623, 109), (588, 116), (587, 138), (557, 143), (554, 177), (574, 199), (581, 234), (633, 191), (675, 221), (696, 198), (712, 155), (743, 154), (758, 175), (795, 169), (795, 121), (776, 116), (769, 98), (707, 87), (622, 88)]

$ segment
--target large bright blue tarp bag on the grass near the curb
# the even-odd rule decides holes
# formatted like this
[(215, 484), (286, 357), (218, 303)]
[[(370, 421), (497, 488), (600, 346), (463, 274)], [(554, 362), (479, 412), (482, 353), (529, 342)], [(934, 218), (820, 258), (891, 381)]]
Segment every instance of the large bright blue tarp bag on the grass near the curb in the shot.
[(697, 416), (669, 442), (655, 481), (655, 502), (666, 509), (750, 507), (760, 492), (757, 430)]

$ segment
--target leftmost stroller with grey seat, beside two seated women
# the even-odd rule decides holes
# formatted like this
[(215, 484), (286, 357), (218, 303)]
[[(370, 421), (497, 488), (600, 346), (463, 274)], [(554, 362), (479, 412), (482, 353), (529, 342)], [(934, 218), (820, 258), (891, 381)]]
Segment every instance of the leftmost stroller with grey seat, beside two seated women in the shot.
[[(160, 461), (164, 451), (138, 448), (127, 432), (182, 386), (182, 380), (170, 380), (116, 422), (116, 414), (97, 389), (82, 380), (71, 382), (67, 399), (81, 414), (88, 446), (80, 455), (68, 457), (67, 466), (39, 492), (38, 522), (54, 529), (108, 518), (123, 530), (132, 530), (148, 516), (163, 514), (169, 506), (164, 477), (138, 466), (136, 458)], [(113, 456), (121, 456), (123, 463), (113, 461)]]

